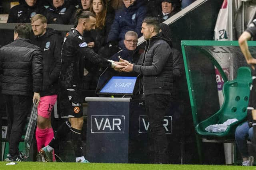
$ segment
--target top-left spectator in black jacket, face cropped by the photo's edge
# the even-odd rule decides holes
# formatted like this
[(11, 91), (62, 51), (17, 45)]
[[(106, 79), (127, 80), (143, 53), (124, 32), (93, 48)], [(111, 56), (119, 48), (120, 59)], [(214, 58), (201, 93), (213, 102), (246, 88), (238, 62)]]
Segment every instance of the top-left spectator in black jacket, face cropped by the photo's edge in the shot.
[(38, 0), (24, 1), (10, 10), (8, 23), (30, 23), (34, 15), (44, 13), (45, 8), (39, 5)]

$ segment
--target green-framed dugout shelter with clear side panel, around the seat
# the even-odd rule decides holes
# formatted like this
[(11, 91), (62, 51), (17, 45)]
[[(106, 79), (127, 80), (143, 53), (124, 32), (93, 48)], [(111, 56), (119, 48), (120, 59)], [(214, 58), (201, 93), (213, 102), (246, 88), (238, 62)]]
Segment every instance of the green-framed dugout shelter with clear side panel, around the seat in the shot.
[[(224, 82), (234, 80), (238, 68), (248, 65), (238, 41), (182, 41), (181, 45), (193, 124), (196, 127), (199, 122), (216, 113), (222, 106)], [(248, 45), (252, 57), (256, 57), (256, 43), (249, 41)], [(196, 134), (196, 142), (199, 157), (204, 163), (216, 153), (223, 158), (222, 144), (218, 143), (234, 143), (234, 134), (222, 139)], [(234, 163), (236, 163), (235, 147), (236, 144), (230, 151)]]

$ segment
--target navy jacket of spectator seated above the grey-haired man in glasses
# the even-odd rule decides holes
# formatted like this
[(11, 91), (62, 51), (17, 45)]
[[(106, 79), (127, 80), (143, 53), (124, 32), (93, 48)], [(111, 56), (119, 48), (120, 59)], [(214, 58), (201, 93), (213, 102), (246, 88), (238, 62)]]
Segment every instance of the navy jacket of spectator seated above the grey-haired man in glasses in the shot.
[(126, 8), (118, 10), (115, 14), (115, 19), (111, 25), (110, 32), (108, 34), (107, 42), (118, 41), (118, 45), (124, 48), (124, 35), (127, 31), (135, 31), (140, 37), (142, 34), (141, 25), (146, 16), (146, 7), (144, 0), (137, 0)]

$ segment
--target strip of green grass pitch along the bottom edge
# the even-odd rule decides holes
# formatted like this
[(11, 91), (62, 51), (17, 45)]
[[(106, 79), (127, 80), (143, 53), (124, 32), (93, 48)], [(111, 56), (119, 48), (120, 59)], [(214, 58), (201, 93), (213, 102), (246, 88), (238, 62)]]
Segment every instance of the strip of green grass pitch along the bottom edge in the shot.
[(6, 165), (0, 162), (0, 170), (256, 170), (255, 166), (225, 165), (177, 165), (177, 164), (105, 164), (74, 162), (18, 162)]

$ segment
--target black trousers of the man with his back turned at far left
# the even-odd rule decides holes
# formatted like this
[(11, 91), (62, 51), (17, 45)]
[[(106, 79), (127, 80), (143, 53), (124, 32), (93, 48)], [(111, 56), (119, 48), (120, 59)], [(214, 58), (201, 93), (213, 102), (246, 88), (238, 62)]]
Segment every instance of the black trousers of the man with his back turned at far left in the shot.
[(9, 153), (12, 156), (19, 154), (19, 143), (32, 105), (32, 98), (28, 96), (4, 95), (8, 118), (7, 139)]

